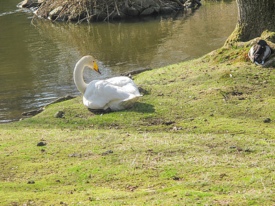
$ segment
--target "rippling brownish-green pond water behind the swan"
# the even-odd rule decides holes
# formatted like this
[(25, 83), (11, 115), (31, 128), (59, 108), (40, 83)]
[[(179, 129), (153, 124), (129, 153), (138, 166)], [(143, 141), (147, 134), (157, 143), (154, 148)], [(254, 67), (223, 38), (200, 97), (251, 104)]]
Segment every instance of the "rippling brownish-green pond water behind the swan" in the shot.
[(34, 21), (20, 1), (0, 2), (0, 123), (19, 120), (64, 95), (80, 95), (76, 62), (92, 55), (100, 74), (158, 68), (203, 56), (223, 45), (236, 25), (235, 1), (202, 1), (199, 10), (111, 23)]

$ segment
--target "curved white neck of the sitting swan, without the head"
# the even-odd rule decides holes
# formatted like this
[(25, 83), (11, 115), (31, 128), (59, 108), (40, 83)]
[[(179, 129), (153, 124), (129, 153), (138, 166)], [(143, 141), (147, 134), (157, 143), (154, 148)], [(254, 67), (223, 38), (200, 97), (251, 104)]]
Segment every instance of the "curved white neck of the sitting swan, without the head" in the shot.
[(81, 93), (85, 93), (87, 85), (83, 80), (83, 70), (87, 66), (86, 61), (81, 58), (77, 63), (76, 67), (74, 67), (74, 83), (76, 84), (77, 89)]

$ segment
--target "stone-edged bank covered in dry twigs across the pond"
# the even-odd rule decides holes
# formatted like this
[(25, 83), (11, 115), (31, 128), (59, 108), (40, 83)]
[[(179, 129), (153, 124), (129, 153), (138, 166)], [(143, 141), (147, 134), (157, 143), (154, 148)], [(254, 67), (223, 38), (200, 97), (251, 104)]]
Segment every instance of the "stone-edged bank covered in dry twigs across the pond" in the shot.
[(153, 16), (199, 8), (201, 0), (25, 0), (19, 8), (33, 8), (35, 16), (52, 21), (109, 21)]

